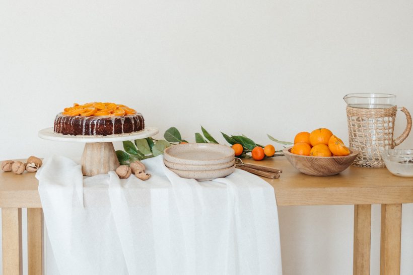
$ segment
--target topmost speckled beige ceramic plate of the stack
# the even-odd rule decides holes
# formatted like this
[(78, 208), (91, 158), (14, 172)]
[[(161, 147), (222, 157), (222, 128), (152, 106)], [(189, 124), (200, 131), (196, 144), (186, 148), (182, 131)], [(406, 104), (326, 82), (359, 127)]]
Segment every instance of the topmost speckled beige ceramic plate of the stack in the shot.
[(179, 144), (164, 150), (164, 159), (169, 162), (189, 165), (222, 164), (234, 160), (231, 147), (215, 143)]

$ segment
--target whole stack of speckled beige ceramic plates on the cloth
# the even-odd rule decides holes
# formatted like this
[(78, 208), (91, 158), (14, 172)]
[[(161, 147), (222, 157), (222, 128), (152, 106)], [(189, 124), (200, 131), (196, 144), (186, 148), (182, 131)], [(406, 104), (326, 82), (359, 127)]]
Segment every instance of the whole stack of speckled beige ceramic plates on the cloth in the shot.
[(180, 177), (211, 180), (235, 170), (234, 150), (215, 143), (188, 143), (168, 147), (164, 163)]

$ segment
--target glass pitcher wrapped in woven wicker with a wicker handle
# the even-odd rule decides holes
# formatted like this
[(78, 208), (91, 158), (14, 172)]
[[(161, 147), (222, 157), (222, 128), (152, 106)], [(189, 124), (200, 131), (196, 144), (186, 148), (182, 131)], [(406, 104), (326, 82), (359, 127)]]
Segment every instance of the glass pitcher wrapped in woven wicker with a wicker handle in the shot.
[(347, 103), (349, 147), (359, 151), (353, 165), (360, 167), (384, 167), (381, 152), (392, 149), (406, 139), (411, 129), (411, 116), (401, 108), (407, 118), (403, 133), (393, 139), (396, 119), (396, 96), (391, 94), (349, 94)]

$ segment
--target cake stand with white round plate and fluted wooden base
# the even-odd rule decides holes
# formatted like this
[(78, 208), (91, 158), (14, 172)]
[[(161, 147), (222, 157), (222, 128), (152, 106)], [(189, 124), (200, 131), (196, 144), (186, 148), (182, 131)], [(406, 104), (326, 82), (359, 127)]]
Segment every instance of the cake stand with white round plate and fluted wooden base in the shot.
[(47, 140), (84, 142), (81, 165), (83, 175), (92, 176), (106, 174), (119, 167), (114, 141), (134, 140), (152, 137), (159, 132), (156, 127), (146, 127), (144, 130), (128, 134), (109, 135), (109, 136), (71, 136), (58, 134), (53, 131), (53, 127), (39, 131), (39, 137)]

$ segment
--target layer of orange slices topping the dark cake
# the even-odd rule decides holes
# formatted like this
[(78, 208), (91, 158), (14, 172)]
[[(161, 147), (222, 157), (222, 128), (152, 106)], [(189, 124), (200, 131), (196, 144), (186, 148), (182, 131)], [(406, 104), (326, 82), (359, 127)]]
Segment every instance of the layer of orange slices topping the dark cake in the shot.
[(74, 103), (72, 107), (63, 109), (62, 115), (66, 116), (124, 116), (133, 115), (136, 111), (125, 106), (111, 102), (91, 102), (79, 105)]

